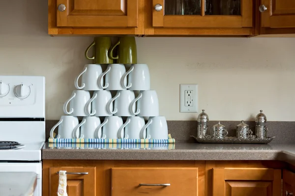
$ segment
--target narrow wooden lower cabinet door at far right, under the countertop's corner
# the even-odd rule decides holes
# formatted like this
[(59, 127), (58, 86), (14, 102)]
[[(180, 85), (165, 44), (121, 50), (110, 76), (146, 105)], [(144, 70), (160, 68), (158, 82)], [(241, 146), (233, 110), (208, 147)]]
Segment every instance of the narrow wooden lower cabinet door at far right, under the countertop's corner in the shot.
[(283, 170), (283, 196), (293, 196), (295, 187), (295, 173)]

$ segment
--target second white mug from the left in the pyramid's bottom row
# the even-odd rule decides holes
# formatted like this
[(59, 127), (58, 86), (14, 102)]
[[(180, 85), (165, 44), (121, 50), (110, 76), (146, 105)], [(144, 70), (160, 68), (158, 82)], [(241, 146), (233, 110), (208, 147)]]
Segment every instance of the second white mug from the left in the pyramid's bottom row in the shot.
[[(78, 128), (81, 127), (80, 138), (81, 139), (101, 138), (101, 129), (97, 129), (99, 125), (100, 125), (99, 117), (94, 117), (94, 116), (84, 117), (82, 122), (77, 126)], [(79, 135), (79, 133), (77, 133), (79, 131), (78, 128), (74, 129), (74, 135)], [(97, 134), (95, 134), (96, 132)]]

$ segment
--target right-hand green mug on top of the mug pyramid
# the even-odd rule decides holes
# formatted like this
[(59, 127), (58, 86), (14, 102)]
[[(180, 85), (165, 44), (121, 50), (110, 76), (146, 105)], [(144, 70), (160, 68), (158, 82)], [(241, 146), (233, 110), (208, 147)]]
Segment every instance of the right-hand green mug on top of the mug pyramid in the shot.
[[(116, 57), (113, 56), (113, 50), (118, 46)], [(117, 44), (115, 44), (109, 51), (109, 58), (117, 60), (119, 64), (136, 64), (137, 50), (134, 37), (120, 37)]]

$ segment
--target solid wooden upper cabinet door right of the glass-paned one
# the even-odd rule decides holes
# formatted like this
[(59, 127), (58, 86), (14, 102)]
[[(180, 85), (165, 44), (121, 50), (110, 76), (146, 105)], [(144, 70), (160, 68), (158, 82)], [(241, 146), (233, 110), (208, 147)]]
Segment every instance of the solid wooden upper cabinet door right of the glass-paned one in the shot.
[(261, 0), (261, 26), (295, 27), (295, 0)]

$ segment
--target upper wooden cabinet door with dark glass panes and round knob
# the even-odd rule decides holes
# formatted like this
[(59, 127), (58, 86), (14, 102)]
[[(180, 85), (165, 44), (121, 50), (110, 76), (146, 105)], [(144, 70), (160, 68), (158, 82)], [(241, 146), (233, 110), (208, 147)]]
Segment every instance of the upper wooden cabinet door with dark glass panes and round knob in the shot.
[(252, 27), (253, 0), (152, 0), (153, 27)]

